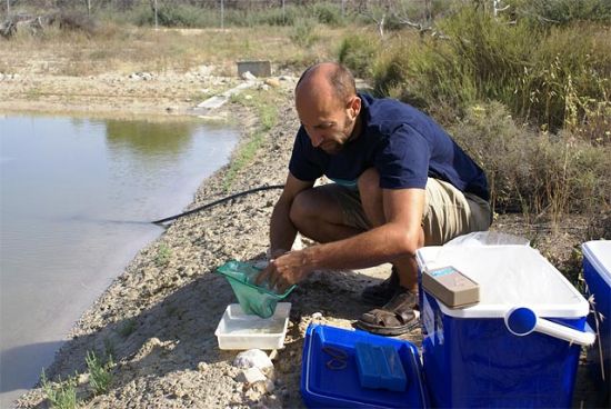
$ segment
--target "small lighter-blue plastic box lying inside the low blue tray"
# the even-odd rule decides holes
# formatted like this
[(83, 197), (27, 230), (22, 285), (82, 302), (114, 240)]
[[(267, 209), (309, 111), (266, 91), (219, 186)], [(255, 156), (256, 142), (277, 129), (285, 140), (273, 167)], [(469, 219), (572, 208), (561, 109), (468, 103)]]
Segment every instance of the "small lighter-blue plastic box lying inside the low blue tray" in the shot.
[(408, 379), (397, 349), (364, 342), (357, 342), (354, 349), (361, 387), (397, 392), (405, 390)]

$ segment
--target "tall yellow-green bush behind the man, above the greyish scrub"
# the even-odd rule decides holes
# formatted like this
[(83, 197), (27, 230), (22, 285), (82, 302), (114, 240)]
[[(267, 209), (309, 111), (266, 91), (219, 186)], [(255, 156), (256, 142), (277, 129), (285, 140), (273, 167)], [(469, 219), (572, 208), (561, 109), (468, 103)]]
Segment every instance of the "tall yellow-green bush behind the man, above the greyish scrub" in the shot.
[(497, 100), (524, 121), (558, 130), (611, 96), (611, 33), (595, 24), (533, 28), (464, 8), (439, 22), (447, 39), (401, 34), (381, 57), (375, 89), (420, 107)]

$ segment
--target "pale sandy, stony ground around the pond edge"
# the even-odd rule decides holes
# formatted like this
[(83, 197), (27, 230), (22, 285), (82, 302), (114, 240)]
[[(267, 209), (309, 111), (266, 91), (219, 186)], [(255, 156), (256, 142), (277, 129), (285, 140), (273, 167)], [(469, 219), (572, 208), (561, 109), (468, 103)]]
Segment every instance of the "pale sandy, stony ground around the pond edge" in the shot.
[[(150, 80), (119, 74), (90, 78), (10, 76), (0, 82), (0, 111), (77, 111), (113, 114), (174, 114), (188, 112), (198, 101), (194, 88), (229, 88), (238, 79), (191, 73), (153, 76)], [(291, 104), (294, 82), (281, 83), (286, 103), (281, 122), (267, 136), (256, 159), (236, 178), (232, 190), (282, 183), (298, 127)], [(170, 108), (170, 109), (168, 109)], [(237, 104), (214, 116), (231, 113), (248, 130), (256, 126), (252, 112)], [(242, 143), (247, 138), (242, 140)], [(222, 180), (227, 168), (203, 181), (192, 207), (227, 194)], [(268, 388), (241, 381), (232, 366), (237, 351), (218, 348), (214, 330), (227, 305), (236, 302), (230, 286), (214, 269), (229, 259), (258, 260), (268, 248), (268, 222), (280, 191), (236, 199), (204, 212), (180, 219), (156, 242), (142, 249), (100, 299), (76, 323), (70, 340), (58, 352), (47, 373), (62, 379), (86, 372), (86, 353), (111, 353), (116, 362), (110, 390), (93, 396), (87, 376), (79, 377), (79, 397), (84, 407), (108, 408), (299, 408), (301, 349), (308, 325), (320, 322), (350, 328), (370, 307), (359, 293), (389, 272), (382, 266), (363, 271), (320, 271), (291, 295), (286, 347), (274, 358), (274, 381)], [(588, 226), (581, 220), (581, 225)], [(519, 217), (499, 217), (494, 228), (537, 237), (538, 246), (553, 262), (570, 267), (573, 247), (588, 233), (585, 228), (553, 232), (528, 226)], [(160, 262), (160, 246), (169, 260)], [(318, 316), (318, 315), (317, 315)], [(405, 338), (420, 342), (420, 331)], [(593, 407), (592, 386), (580, 368), (575, 407)], [(19, 407), (48, 406), (40, 388), (32, 389)]]

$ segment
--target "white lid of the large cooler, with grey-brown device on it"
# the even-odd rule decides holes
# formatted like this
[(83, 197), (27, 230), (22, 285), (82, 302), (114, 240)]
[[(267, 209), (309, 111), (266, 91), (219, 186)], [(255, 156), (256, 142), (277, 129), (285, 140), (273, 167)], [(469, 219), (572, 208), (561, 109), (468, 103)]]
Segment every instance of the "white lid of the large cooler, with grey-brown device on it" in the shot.
[(581, 318), (588, 301), (541, 253), (528, 246), (424, 247), (417, 252), (421, 270), (453, 266), (479, 283), (480, 302), (467, 308), (439, 306), (461, 318), (502, 318), (528, 307), (543, 318)]

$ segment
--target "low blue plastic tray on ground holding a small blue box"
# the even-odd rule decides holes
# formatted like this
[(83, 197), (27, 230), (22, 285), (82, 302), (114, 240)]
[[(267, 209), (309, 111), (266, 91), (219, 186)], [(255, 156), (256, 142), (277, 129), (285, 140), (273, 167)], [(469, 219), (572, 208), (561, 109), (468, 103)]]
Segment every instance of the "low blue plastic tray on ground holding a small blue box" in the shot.
[[(400, 373), (374, 370), (384, 361), (381, 356), (369, 361), (359, 355), (374, 350), (390, 350)], [(308, 408), (430, 407), (420, 355), (411, 342), (314, 323), (303, 341), (301, 396)]]

